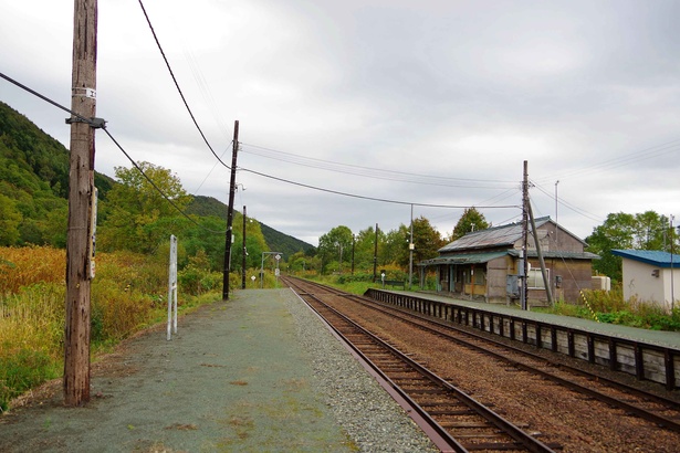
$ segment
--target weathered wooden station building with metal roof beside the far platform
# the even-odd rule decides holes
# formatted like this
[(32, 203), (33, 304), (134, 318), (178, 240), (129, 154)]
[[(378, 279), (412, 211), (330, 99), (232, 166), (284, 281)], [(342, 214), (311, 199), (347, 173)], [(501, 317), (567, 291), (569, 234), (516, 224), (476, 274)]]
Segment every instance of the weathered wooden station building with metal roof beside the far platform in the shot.
[[(553, 298), (576, 303), (580, 289), (590, 289), (593, 260), (586, 242), (565, 230), (550, 217), (535, 220), (536, 235), (547, 271), (543, 280), (534, 235), (527, 238), (527, 303), (547, 304), (546, 285)], [(493, 304), (520, 303), (522, 223), (473, 231), (439, 249), (439, 256), (422, 261), (420, 286), (426, 274), (437, 275), (437, 293), (451, 297)]]

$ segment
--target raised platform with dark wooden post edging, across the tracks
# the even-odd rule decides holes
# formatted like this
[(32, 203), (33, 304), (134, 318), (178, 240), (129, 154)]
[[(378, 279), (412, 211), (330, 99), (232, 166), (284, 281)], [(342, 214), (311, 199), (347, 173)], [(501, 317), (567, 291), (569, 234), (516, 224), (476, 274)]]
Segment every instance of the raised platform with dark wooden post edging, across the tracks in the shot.
[(375, 301), (477, 328), (512, 340), (604, 365), (677, 389), (680, 334), (599, 324), (587, 319), (522, 312), (503, 305), (369, 288)]

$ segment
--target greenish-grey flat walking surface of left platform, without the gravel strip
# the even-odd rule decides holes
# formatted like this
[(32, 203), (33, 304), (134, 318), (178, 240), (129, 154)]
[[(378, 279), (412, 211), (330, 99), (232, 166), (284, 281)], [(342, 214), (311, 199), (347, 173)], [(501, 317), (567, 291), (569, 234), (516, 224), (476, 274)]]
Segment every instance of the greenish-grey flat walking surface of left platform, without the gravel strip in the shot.
[(281, 293), (248, 291), (93, 367), (92, 401), (0, 418), (0, 452), (356, 451), (313, 386)]

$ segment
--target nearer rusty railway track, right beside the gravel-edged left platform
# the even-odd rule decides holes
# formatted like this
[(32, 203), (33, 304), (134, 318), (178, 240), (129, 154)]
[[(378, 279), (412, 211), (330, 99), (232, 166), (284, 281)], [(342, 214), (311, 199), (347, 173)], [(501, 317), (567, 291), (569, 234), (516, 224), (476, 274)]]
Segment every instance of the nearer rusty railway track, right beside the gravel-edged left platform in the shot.
[[(441, 451), (552, 452), (546, 445), (490, 408), (438, 377), (359, 324), (324, 303), (310, 282), (284, 277), (283, 282), (328, 323), (354, 354), (406, 409)], [(337, 294), (334, 294), (335, 296)]]

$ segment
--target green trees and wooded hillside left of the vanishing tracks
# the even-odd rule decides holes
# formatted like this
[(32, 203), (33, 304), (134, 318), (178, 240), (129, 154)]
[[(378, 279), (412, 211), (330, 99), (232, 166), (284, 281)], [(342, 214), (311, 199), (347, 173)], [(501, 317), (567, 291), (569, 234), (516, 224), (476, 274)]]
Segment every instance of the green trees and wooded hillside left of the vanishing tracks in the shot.
[[(180, 260), (200, 252), (211, 271), (223, 268), (227, 207), (216, 199), (189, 196), (168, 169), (138, 162), (172, 207), (134, 167), (116, 168), (116, 180), (96, 173), (97, 249), (164, 252), (169, 235), (181, 238)], [(0, 103), (0, 245), (65, 247), (69, 150), (28, 118)], [(178, 211), (179, 209), (179, 211)], [(180, 212), (184, 211), (184, 212)], [(241, 267), (242, 225), (234, 213), (232, 263)], [(262, 251), (287, 254), (313, 251), (311, 244), (247, 222), (247, 266), (259, 267)], [(265, 230), (269, 236), (263, 234)]]

